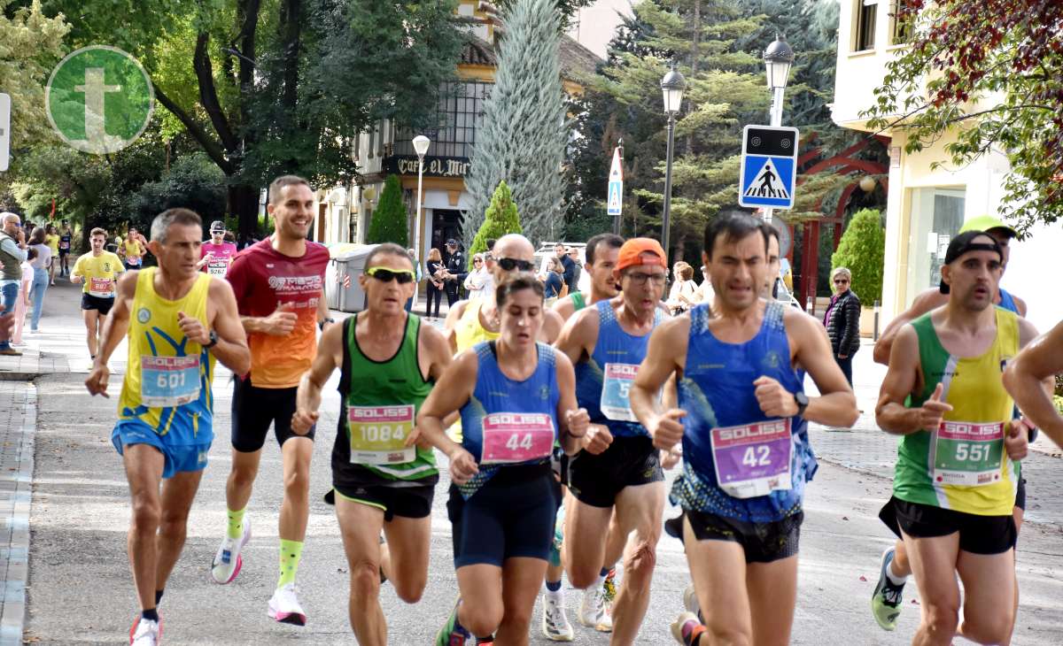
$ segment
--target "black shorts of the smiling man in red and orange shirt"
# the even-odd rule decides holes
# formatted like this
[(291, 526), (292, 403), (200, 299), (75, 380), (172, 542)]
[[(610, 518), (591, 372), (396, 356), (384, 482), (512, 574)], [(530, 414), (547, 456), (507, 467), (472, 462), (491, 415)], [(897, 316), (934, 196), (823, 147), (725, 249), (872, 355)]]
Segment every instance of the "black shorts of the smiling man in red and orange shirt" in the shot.
[(291, 430), (296, 414), (297, 388), (257, 388), (251, 377), (236, 378), (233, 385), (233, 448), (254, 453), (266, 443), (269, 425), (273, 424), (276, 443), (284, 445), (289, 438), (314, 439), (317, 425), (305, 436)]

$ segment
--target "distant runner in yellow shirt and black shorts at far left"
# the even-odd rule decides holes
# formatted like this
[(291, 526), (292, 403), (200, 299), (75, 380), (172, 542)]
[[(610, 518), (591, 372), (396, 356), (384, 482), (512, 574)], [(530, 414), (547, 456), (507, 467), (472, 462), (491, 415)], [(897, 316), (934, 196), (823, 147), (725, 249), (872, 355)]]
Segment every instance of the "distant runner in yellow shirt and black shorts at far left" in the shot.
[[(103, 334), (103, 324), (107, 312), (115, 304), (115, 283), (118, 275), (125, 271), (122, 260), (109, 251), (103, 251), (107, 243), (107, 232), (94, 228), (88, 237), (92, 251), (78, 258), (70, 272), (70, 282), (74, 285), (85, 284), (81, 294), (81, 314), (85, 320), (86, 343), (88, 344), (89, 370), (96, 361), (99, 339)], [(60, 244), (62, 244), (62, 240)], [(60, 248), (62, 250), (62, 246)]]

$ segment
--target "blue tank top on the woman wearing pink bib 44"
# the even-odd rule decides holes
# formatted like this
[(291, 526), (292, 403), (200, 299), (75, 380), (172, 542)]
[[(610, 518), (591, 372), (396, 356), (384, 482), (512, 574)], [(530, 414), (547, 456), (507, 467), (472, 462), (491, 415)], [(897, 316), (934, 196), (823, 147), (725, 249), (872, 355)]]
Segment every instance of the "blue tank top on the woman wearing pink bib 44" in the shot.
[[(546, 463), (558, 438), (555, 350), (536, 343), (538, 366), (527, 379), (502, 374), (494, 341), (477, 343), (476, 387), (461, 407), (461, 446), (479, 464), (479, 473), (465, 484), (468, 499), (506, 465)], [(547, 431), (549, 429), (549, 431)]]

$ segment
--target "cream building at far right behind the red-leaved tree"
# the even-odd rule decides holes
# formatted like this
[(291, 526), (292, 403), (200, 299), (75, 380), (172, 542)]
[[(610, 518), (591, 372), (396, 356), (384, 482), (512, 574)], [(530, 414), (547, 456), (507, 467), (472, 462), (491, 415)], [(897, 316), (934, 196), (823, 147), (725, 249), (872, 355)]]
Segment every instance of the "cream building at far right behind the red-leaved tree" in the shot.
[[(839, 0), (838, 64), (831, 106), (838, 125), (873, 132), (860, 114), (874, 104), (874, 90), (885, 75), (887, 63), (907, 47), (905, 27), (894, 19), (895, 7), (902, 1)], [(921, 291), (939, 284), (945, 249), (965, 220), (983, 214), (998, 215), (1003, 178), (1010, 167), (999, 150), (992, 150), (956, 168), (945, 152), (955, 135), (909, 154), (904, 151), (907, 135), (902, 123), (882, 134), (891, 137), (882, 280), (884, 325)], [(934, 163), (942, 166), (933, 169)], [(1039, 257), (1043, 261), (1048, 240), (1056, 249), (1063, 243), (1060, 232), (1058, 226), (1045, 227), (1027, 241), (1013, 243), (1012, 260), (1002, 280), (1007, 289), (1028, 302), (1031, 317), (1042, 327), (1058, 321), (1063, 306), (1054, 296), (1034, 293), (1031, 288), (1037, 283), (1030, 280), (1036, 279)]]

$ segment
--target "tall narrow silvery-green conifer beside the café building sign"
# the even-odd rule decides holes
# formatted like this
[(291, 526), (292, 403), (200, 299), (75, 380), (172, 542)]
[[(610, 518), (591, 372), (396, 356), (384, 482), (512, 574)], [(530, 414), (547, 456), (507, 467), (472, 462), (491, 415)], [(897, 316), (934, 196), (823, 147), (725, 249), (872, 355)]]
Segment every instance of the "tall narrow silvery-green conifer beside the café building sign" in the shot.
[(470, 249), (491, 191), (503, 181), (521, 204), (533, 242), (561, 233), (569, 135), (557, 57), (559, 19), (555, 0), (514, 0), (503, 14), (506, 33), (494, 87), (484, 102), (484, 126), (466, 177), (472, 207), (463, 214), (462, 230)]

